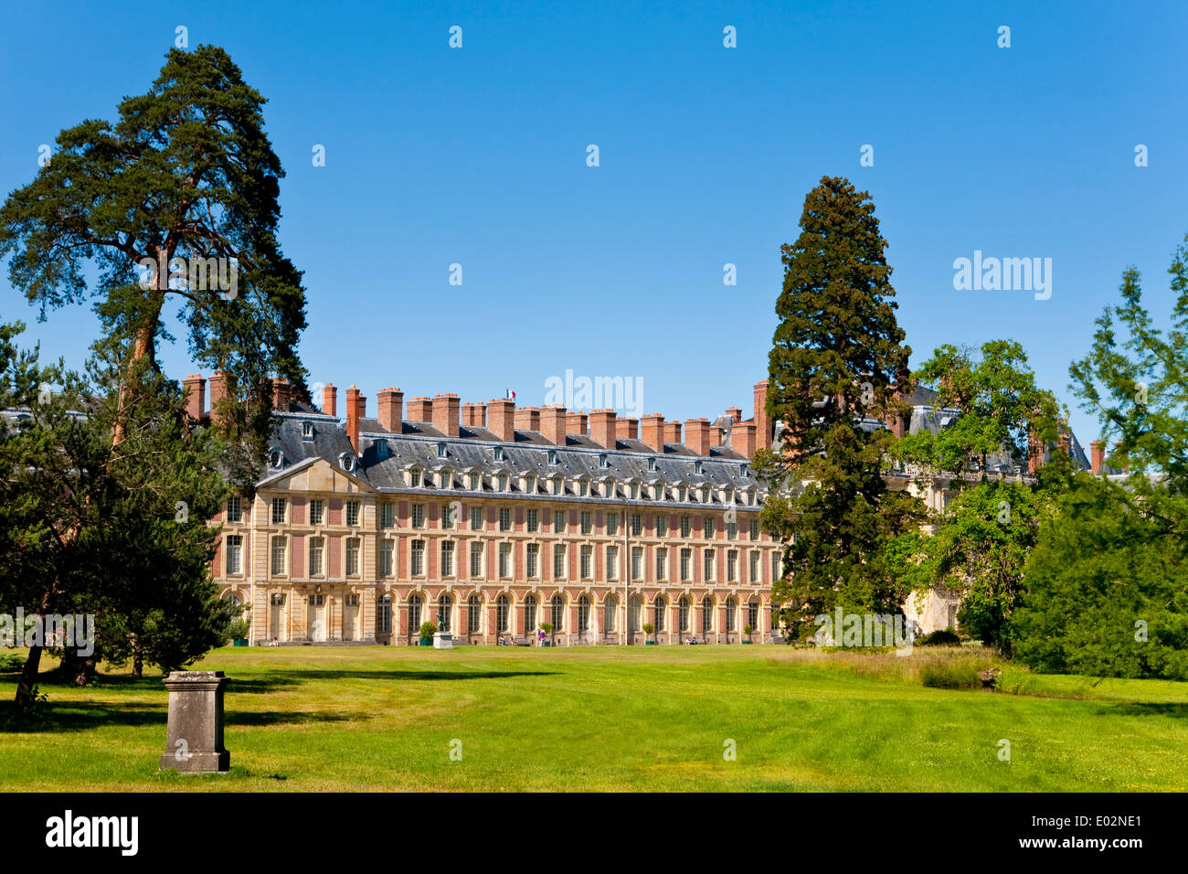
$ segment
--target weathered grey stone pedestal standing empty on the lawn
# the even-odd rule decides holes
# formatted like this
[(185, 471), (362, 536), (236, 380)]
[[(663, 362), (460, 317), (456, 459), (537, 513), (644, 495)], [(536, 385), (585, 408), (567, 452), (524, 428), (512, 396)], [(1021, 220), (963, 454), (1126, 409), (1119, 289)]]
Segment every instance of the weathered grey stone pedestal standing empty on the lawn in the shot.
[(222, 671), (175, 671), (165, 678), (169, 730), (162, 771), (225, 773), (230, 767), (222, 746), (222, 697), (229, 681)]

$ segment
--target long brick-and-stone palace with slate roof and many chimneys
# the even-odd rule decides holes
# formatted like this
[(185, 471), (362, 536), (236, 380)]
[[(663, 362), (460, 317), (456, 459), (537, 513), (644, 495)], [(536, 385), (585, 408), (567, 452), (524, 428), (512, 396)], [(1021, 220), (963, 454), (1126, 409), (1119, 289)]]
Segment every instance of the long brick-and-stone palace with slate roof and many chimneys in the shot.
[[(207, 381), (184, 383), (201, 420)], [(223, 392), (215, 373), (211, 407)], [(642, 645), (644, 623), (659, 643), (769, 641), (781, 546), (750, 471), (765, 392), (752, 420), (682, 425), (398, 389), (372, 419), (352, 386), (340, 419), (333, 385), (320, 410), (273, 381), (267, 469), (216, 518), (214, 578), (251, 605), (254, 645), (416, 645), (438, 620), (455, 643), (542, 623), (558, 646)]]

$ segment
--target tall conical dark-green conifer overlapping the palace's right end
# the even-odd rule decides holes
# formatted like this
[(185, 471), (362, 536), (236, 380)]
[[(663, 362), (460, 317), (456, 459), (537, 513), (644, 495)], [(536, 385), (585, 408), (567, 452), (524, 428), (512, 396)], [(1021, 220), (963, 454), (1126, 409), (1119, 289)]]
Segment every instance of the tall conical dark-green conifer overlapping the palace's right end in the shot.
[(769, 359), (767, 414), (778, 451), (757, 453), (782, 486), (762, 513), (784, 543), (773, 598), (795, 635), (834, 606), (898, 612), (906, 590), (885, 554), (918, 524), (918, 499), (883, 478), (893, 435), (864, 428), (903, 413), (911, 350), (896, 321), (887, 246), (874, 203), (845, 178), (809, 191), (795, 244), (783, 246), (784, 288)]

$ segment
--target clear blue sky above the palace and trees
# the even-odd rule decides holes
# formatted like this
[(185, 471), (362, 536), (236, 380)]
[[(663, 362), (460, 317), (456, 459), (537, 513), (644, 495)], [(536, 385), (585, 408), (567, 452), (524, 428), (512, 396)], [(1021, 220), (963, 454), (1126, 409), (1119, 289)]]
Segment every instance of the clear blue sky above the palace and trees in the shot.
[[(645, 411), (670, 419), (750, 416), (779, 246), (822, 175), (874, 199), (912, 364), (1016, 339), (1085, 444), (1097, 422), (1068, 364), (1121, 271), (1169, 312), (1188, 232), (1184, 4), (293, 6), (10, 6), (0, 189), (27, 183), (61, 128), (145, 92), (176, 26), (223, 46), (270, 100), (310, 379), (358, 384), (372, 414), (387, 385), (538, 404), (573, 370), (640, 378)], [(974, 250), (1051, 258), (1050, 300), (954, 290)], [(6, 277), (0, 317), (81, 364), (91, 313), (37, 323)], [(184, 342), (162, 358), (192, 370)]]

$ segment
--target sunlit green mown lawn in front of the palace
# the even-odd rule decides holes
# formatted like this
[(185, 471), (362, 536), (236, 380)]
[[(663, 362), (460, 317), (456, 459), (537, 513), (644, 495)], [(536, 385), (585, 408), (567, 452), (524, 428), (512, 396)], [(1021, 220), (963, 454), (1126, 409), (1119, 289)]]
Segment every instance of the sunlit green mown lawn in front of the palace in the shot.
[[(0, 791), (1188, 788), (1188, 685), (1009, 669), (1024, 693), (924, 687), (939, 658), (225, 648), (195, 667), (233, 678), (229, 774), (158, 773), (160, 677), (109, 673), (42, 686), (46, 722), (0, 734)], [(0, 675), (0, 722), (15, 679)]]

